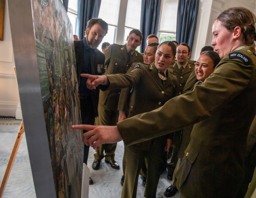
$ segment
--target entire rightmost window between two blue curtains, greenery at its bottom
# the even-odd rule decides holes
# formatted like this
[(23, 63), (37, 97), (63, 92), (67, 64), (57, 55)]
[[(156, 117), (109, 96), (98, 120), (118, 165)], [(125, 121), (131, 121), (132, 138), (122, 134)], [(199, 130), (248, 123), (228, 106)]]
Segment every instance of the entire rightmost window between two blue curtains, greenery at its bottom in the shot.
[(159, 25), (159, 42), (176, 40), (177, 10), (179, 0), (163, 0)]

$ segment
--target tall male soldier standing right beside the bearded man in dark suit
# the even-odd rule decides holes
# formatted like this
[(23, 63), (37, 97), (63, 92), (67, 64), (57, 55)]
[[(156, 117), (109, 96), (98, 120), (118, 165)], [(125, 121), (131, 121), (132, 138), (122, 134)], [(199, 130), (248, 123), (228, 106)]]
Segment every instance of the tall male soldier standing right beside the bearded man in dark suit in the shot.
[[(134, 62), (142, 62), (143, 57), (135, 48), (141, 44), (142, 34), (138, 30), (132, 30), (127, 37), (127, 44), (111, 44), (105, 51), (105, 74), (126, 73)], [(118, 121), (118, 100), (121, 89), (114, 89), (106, 92), (100, 91), (98, 104), (97, 125), (116, 125)], [(101, 145), (99, 150), (94, 154), (93, 169), (100, 167), (102, 158), (105, 162), (110, 163), (114, 169), (119, 169), (119, 165), (114, 160), (116, 143)], [(104, 155), (105, 150), (105, 155)]]

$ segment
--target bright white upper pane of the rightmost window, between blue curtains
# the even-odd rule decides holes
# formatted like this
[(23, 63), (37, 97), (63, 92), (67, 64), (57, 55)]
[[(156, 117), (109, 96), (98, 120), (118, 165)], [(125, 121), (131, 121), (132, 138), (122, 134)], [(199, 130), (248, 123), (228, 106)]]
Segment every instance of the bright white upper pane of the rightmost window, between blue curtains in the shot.
[(163, 0), (159, 32), (176, 32), (179, 0)]

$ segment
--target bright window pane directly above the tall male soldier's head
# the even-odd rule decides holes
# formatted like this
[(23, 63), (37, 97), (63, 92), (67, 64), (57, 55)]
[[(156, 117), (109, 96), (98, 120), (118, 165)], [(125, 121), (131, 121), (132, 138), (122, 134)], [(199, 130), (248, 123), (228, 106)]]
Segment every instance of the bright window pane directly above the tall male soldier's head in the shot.
[(140, 29), (141, 0), (128, 0), (125, 26)]

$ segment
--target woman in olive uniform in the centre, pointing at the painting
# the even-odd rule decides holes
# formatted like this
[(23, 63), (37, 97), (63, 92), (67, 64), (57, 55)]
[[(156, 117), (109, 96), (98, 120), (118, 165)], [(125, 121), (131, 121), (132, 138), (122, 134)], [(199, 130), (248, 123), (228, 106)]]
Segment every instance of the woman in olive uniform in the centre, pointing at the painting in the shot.
[[(108, 87), (101, 86), (102, 90), (133, 86), (134, 90), (128, 104), (127, 119), (129, 119), (139, 113), (157, 109), (177, 95), (177, 78), (173, 75), (173, 70), (168, 68), (171, 61), (175, 59), (175, 53), (175, 45), (171, 41), (166, 41), (158, 46), (155, 63), (150, 65), (139, 63), (127, 74), (87, 77), (90, 80), (98, 78), (99, 84), (109, 85)], [(144, 160), (147, 167), (144, 197), (154, 198), (156, 196), (163, 162), (166, 160), (164, 151), (171, 146), (171, 140), (167, 141), (167, 138), (167, 136), (157, 137), (136, 145), (125, 146), (126, 171), (122, 198), (136, 198), (138, 175)]]

